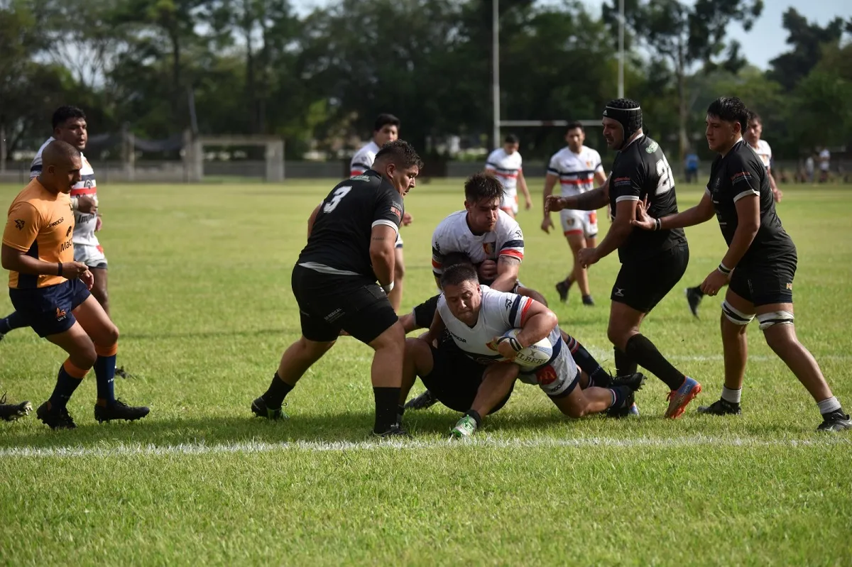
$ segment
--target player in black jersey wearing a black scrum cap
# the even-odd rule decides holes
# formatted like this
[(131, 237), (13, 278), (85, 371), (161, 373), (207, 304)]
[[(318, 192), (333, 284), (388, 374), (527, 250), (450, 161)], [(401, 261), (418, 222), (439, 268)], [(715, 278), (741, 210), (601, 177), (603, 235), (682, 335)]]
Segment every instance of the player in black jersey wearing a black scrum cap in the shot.
[(615, 346), (618, 375), (631, 375), (637, 364), (650, 370), (669, 387), (665, 416), (679, 417), (701, 392), (701, 385), (676, 369), (657, 350), (639, 327), (654, 306), (680, 281), (689, 261), (689, 247), (682, 229), (642, 232), (630, 225), (636, 204), (648, 198), (652, 214), (677, 212), (675, 183), (659, 144), (642, 133), (642, 108), (635, 100), (611, 100), (603, 112), (603, 137), (619, 150), (613, 173), (597, 189), (572, 197), (547, 198), (545, 208), (600, 209), (609, 203), (613, 224), (597, 248), (579, 252), (584, 266), (619, 251), (621, 269), (610, 295), (607, 335)]

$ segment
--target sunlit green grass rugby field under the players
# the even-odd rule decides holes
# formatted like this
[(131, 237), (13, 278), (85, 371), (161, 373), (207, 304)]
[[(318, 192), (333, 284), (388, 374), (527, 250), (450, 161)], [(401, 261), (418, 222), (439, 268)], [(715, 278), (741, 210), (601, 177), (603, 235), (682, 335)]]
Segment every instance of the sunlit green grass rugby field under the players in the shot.
[[(569, 421), (520, 386), (471, 443), (446, 441), (458, 415), (437, 407), (406, 413), (411, 441), (376, 442), (371, 352), (345, 337), (287, 398), (290, 420), (253, 419), (250, 401), (299, 335), (291, 266), (331, 184), (101, 188), (118, 364), (135, 375), (116, 390), (152, 412), (97, 425), (90, 375), (69, 404), (77, 430), (51, 432), (35, 415), (0, 423), (0, 563), (852, 564), (852, 437), (815, 432), (814, 402), (756, 325), (739, 418), (693, 404), (666, 421), (652, 379), (637, 394), (642, 417)], [(433, 293), (429, 237), (461, 208), (460, 186), (435, 180), (406, 198), (406, 311)], [(780, 205), (799, 251), (797, 332), (847, 409), (849, 189), (785, 187)], [(19, 190), (0, 187), (0, 203)], [(700, 196), (677, 191), (682, 208)], [(611, 367), (618, 262), (590, 273), (596, 307), (556, 302), (567, 244), (539, 230), (535, 202), (519, 218), (521, 279)], [(643, 329), (707, 403), (722, 384), (719, 300), (694, 319), (682, 288), (725, 248), (712, 221), (688, 238), (687, 275)], [(15, 331), (0, 342), (0, 392), (37, 406), (63, 359)]]

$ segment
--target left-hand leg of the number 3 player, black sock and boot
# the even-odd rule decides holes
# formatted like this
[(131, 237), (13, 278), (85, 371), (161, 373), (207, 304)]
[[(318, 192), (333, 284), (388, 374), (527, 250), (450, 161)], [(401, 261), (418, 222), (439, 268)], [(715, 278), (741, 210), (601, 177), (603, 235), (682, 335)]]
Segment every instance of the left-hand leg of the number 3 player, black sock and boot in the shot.
[(281, 355), (278, 371), (272, 377), (266, 392), (251, 402), (251, 413), (268, 420), (286, 419), (281, 411), (284, 398), (296, 387), (296, 382), (336, 341), (309, 341), (302, 335), (298, 341), (287, 347)]

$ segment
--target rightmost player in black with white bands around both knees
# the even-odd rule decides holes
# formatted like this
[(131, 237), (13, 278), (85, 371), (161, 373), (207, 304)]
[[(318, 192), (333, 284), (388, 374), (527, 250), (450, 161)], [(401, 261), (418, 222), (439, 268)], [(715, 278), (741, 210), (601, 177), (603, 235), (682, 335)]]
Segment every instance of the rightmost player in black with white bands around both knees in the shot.
[[(715, 215), (728, 243), (719, 267), (701, 284), (707, 295), (717, 295), (728, 284), (722, 303), (722, 347), (725, 384), (722, 398), (699, 411), (711, 415), (740, 414), (740, 394), (746, 374), (746, 329), (757, 322), (770, 348), (808, 390), (822, 415), (818, 429), (839, 431), (852, 427), (838, 399), (832, 395), (820, 366), (797, 339), (793, 326), (793, 277), (796, 246), (775, 214), (769, 174), (741, 133), (748, 111), (736, 97), (722, 97), (707, 109), (707, 144), (717, 158), (701, 202), (675, 215), (648, 215), (636, 210), (634, 226), (660, 231), (694, 226)], [(657, 218), (654, 218), (656, 216)]]

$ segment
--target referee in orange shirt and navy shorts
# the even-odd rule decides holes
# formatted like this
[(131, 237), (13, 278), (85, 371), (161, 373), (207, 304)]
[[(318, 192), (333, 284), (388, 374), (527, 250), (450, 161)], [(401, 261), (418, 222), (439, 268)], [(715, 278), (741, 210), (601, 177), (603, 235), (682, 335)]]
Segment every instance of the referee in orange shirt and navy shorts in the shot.
[(137, 420), (146, 407), (115, 398), (118, 328), (89, 294), (94, 277), (73, 261), (71, 198), (83, 166), (77, 148), (54, 140), (44, 148), (42, 172), (9, 207), (3, 230), (3, 268), (9, 270), (9, 299), (39, 336), (68, 353), (49, 400), (36, 410), (54, 429), (77, 427), (66, 404), (83, 377), (95, 368), (97, 421)]

